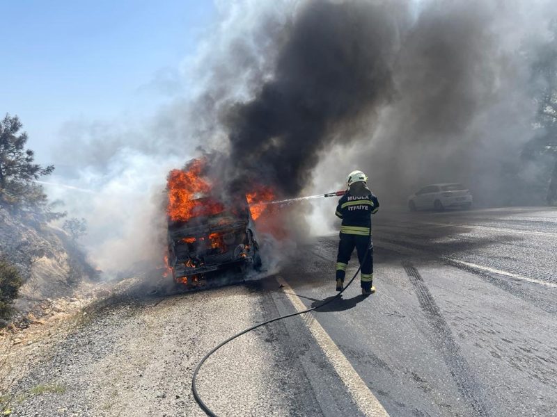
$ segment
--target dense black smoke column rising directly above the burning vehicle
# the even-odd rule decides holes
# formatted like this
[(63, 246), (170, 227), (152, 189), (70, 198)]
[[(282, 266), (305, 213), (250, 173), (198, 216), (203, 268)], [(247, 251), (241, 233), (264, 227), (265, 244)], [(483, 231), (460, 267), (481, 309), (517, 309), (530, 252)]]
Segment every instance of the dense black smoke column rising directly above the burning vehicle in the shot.
[(229, 175), (262, 176), (293, 196), (311, 182), (320, 151), (350, 142), (341, 127), (376, 117), (391, 99), (397, 27), (384, 6), (313, 1), (284, 30), (272, 79), (230, 108), (226, 126)]

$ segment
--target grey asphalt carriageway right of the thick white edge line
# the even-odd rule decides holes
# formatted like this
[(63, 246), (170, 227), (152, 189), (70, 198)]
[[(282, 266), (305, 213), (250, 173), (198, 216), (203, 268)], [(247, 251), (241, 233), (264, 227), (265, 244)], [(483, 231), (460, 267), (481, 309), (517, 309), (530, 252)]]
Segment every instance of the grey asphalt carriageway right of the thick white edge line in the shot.
[[(391, 416), (557, 416), (556, 210), (384, 211), (373, 240), (377, 293), (356, 279), (315, 318)], [(336, 243), (281, 272), (306, 306), (334, 294)]]

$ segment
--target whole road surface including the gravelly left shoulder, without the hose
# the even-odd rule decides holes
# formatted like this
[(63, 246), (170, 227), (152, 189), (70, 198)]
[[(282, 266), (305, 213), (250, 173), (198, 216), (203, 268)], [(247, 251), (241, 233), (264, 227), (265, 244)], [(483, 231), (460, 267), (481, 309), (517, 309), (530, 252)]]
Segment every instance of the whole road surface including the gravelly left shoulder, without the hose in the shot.
[[(199, 392), (219, 416), (557, 416), (556, 238), (548, 208), (382, 208), (377, 293), (361, 297), (356, 279), (342, 300), (233, 341)], [(334, 296), (337, 240), (240, 286), (112, 297), (37, 347), (13, 414), (203, 415), (189, 393), (196, 363), (249, 325)]]

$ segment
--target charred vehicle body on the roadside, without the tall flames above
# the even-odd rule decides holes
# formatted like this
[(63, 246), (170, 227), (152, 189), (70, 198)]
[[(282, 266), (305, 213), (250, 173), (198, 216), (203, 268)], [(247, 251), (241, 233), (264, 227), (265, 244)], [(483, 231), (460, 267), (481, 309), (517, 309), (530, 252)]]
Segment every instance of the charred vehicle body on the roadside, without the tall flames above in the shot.
[(256, 229), (246, 197), (228, 204), (211, 197), (191, 203), (191, 218), (168, 219), (168, 266), (176, 284), (187, 288), (210, 286), (218, 281), (219, 272), (237, 276), (246, 268), (260, 268)]

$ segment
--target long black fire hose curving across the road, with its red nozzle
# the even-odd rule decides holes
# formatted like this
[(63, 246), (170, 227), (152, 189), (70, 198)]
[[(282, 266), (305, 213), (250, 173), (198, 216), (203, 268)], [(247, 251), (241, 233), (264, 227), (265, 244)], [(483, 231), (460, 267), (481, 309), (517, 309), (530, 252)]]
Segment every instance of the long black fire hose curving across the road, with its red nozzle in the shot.
[[(328, 195), (325, 194), (325, 195), (323, 195), (323, 197), (333, 197), (334, 195), (343, 195), (343, 194), (339, 194), (339, 193), (344, 194), (343, 191), (338, 191), (337, 193), (329, 193)], [(369, 239), (369, 243), (368, 243), (368, 249), (366, 250), (366, 254), (363, 255), (362, 259), (366, 259), (370, 250), (371, 250), (371, 227), (370, 227), (370, 239)], [(310, 311), (315, 311), (317, 309), (320, 309), (322, 306), (325, 306), (325, 305), (333, 302), (334, 300), (338, 300), (340, 298), (340, 296), (345, 292), (346, 288), (348, 288), (350, 286), (350, 284), (352, 284), (352, 281), (354, 281), (354, 279), (356, 279), (360, 270), (361, 270), (361, 265), (359, 265), (358, 270), (356, 270), (356, 272), (354, 273), (354, 276), (352, 277), (352, 279), (350, 279), (350, 281), (348, 281), (348, 284), (346, 284), (346, 286), (342, 289), (342, 291), (339, 291), (339, 293), (337, 295), (335, 295), (334, 297), (332, 297), (330, 300), (322, 302), (321, 304), (319, 304), (315, 307), (311, 307), (311, 309), (306, 309), (304, 311), (297, 311), (296, 313), (285, 314), (284, 316), (278, 316), (278, 317), (272, 318), (271, 320), (261, 322), (258, 325), (254, 325), (254, 326), (251, 326), (247, 329), (244, 329), (244, 330), (242, 330), (242, 332), (239, 332), (239, 333), (235, 334), (234, 336), (230, 336), (229, 338), (226, 339), (226, 341), (223, 341), (223, 342), (219, 343), (217, 346), (213, 347), (212, 350), (210, 350), (210, 352), (205, 354), (203, 359), (201, 359), (201, 361), (197, 364), (197, 366), (194, 370), (194, 375), (191, 378), (191, 392), (194, 394), (194, 398), (195, 398), (197, 404), (199, 405), (199, 407), (201, 407), (201, 409), (203, 409), (203, 411), (205, 411), (205, 414), (207, 414), (207, 416), (210, 416), (210, 417), (218, 417), (217, 414), (215, 414), (207, 406), (207, 404), (205, 404), (205, 402), (203, 402), (203, 400), (201, 400), (201, 397), (199, 396), (199, 393), (197, 391), (196, 379), (197, 379), (197, 375), (199, 373), (199, 370), (201, 369), (201, 366), (203, 366), (203, 363), (205, 363), (205, 361), (207, 359), (209, 359), (209, 357), (212, 354), (214, 354), (214, 352), (217, 352), (217, 350), (219, 350), (221, 347), (226, 345), (226, 343), (231, 342), (235, 338), (238, 338), (238, 337), (242, 336), (242, 334), (246, 334), (248, 332), (251, 332), (252, 330), (257, 329), (258, 327), (268, 325), (269, 323), (276, 322), (278, 320), (283, 320), (284, 318), (299, 316), (300, 314), (309, 313)]]

